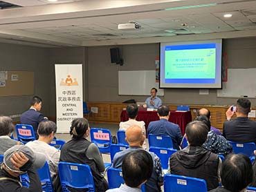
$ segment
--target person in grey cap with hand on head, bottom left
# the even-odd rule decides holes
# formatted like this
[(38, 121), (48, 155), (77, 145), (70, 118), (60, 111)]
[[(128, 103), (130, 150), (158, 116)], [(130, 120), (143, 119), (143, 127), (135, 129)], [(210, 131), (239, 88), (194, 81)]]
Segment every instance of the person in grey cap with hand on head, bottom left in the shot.
[[(16, 145), (4, 153), (3, 164), (0, 168), (0, 191), (42, 191), (41, 181), (37, 169), (41, 169), (46, 162), (42, 153), (33, 153), (28, 146)], [(28, 173), (30, 186), (21, 186), (19, 175)]]

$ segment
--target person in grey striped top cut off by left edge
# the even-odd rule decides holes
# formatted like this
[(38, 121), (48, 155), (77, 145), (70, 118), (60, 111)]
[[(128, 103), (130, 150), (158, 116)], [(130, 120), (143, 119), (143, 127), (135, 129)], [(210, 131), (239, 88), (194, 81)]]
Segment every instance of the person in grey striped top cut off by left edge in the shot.
[(15, 126), (12, 123), (12, 119), (10, 117), (0, 116), (0, 155), (3, 155), (12, 146), (21, 144), (10, 138), (14, 130)]

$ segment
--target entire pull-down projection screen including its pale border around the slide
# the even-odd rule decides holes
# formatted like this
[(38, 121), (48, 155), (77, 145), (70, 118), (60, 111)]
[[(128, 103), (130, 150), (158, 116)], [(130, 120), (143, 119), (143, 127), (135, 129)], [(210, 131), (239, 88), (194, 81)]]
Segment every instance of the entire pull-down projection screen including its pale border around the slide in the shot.
[(161, 44), (161, 86), (221, 88), (221, 43)]

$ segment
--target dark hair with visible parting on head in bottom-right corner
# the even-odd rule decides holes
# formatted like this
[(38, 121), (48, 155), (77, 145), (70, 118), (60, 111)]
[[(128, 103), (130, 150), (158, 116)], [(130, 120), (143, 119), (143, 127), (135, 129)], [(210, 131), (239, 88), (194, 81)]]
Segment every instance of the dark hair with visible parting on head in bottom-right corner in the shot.
[(253, 180), (253, 168), (246, 155), (228, 155), (221, 166), (221, 183), (225, 189), (239, 192)]

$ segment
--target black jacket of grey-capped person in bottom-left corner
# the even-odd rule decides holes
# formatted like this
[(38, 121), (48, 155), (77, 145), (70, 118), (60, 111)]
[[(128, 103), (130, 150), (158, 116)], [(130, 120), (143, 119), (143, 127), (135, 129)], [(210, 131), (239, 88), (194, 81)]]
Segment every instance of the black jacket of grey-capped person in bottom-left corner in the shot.
[[(1, 180), (3, 177), (8, 177), (11, 180)], [(28, 177), (30, 180), (29, 188), (22, 187), (19, 183), (19, 178), (12, 177), (4, 169), (0, 169), (0, 192), (17, 191), (17, 192), (39, 192), (42, 191), (42, 185), (37, 175), (37, 171), (31, 167), (28, 170)], [(16, 181), (16, 182), (15, 182)]]

